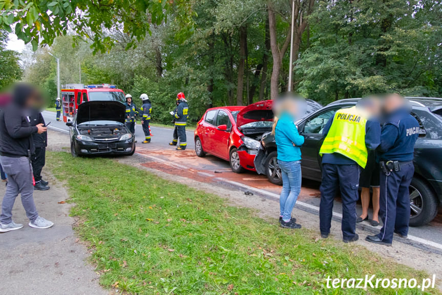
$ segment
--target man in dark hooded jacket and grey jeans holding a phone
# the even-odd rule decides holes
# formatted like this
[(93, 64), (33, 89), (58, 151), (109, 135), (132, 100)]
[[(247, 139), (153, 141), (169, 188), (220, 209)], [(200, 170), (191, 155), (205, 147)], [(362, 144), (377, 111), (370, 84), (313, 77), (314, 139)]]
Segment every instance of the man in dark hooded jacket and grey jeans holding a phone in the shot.
[(18, 193), (22, 199), (29, 226), (49, 228), (54, 225), (38, 215), (33, 192), (31, 155), (34, 153), (33, 133), (46, 132), (43, 124), (30, 125), (30, 107), (38, 93), (31, 86), (18, 84), (13, 101), (0, 112), (0, 162), (8, 174), (8, 185), (2, 202), (0, 232), (20, 229), (22, 224), (12, 221), (12, 207)]

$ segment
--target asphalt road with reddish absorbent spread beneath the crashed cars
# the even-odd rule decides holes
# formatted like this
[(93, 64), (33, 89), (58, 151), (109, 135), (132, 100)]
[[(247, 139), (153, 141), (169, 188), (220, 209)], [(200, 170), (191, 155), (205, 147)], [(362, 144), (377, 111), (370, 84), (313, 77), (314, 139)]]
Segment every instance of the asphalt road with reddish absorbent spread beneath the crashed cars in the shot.
[[(44, 111), (43, 116), (46, 122), (52, 122), (49, 126), (52, 129), (68, 132), (69, 128), (64, 122), (55, 121), (55, 113)], [(194, 151), (193, 131), (187, 131), (187, 149), (185, 151), (176, 151), (175, 147), (167, 145), (172, 141), (171, 128), (151, 127), (152, 143), (142, 144), (144, 134), (141, 125), (136, 125), (135, 139), (138, 141), (136, 152), (142, 154), (151, 161), (142, 165), (155, 168), (170, 174), (179, 173), (187, 178), (195, 179), (206, 183), (222, 183), (226, 186), (240, 188), (244, 191), (250, 191), (257, 195), (257, 198), (264, 197), (270, 200), (278, 201), (281, 187), (271, 184), (263, 175), (254, 172), (245, 172), (236, 174), (231, 172), (228, 162), (215, 158), (212, 155), (206, 155), (204, 158), (198, 158)], [(319, 209), (319, 183), (303, 180), (301, 194), (297, 206), (303, 210), (318, 214)], [(358, 214), (362, 211), (361, 206), (357, 207)], [(334, 202), (334, 219), (340, 219), (341, 203), (339, 200)], [(371, 215), (371, 213), (370, 213)], [(364, 230), (377, 233), (381, 228), (371, 227), (368, 223), (357, 225)], [(416, 244), (423, 249), (442, 253), (442, 214), (439, 211), (438, 217), (426, 226), (411, 227), (409, 239), (403, 240), (404, 243)]]

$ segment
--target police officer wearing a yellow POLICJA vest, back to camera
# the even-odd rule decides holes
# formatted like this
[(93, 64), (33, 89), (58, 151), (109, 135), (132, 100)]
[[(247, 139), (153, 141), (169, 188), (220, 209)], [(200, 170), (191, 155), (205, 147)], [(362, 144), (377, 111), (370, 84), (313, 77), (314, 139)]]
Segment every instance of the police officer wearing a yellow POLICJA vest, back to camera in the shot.
[(323, 130), (322, 183), (319, 221), (321, 237), (328, 238), (333, 214), (333, 200), (338, 189), (342, 198), (343, 242), (357, 241), (356, 201), (359, 198), (360, 167), (367, 163), (367, 149), (380, 143), (381, 126), (370, 120), (371, 109), (377, 105), (370, 98), (360, 100), (356, 106), (340, 109), (327, 122)]

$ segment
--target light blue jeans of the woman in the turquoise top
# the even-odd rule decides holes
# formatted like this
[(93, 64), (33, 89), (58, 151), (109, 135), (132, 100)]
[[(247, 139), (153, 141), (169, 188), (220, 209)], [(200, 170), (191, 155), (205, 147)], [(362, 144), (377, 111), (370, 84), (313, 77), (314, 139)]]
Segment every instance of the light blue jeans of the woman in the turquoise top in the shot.
[(278, 166), (281, 168), (282, 174), (282, 191), (279, 198), (280, 214), (283, 220), (289, 220), (301, 192), (301, 161), (278, 160)]

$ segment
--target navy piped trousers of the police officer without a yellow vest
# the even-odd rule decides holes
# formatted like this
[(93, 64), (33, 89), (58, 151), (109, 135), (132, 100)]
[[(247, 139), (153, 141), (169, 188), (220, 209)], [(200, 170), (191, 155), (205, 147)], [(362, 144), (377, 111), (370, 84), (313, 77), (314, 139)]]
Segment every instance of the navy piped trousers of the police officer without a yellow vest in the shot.
[(401, 163), (400, 171), (384, 173), (381, 171), (381, 195), (379, 198), (379, 215), (381, 216), (381, 232), (377, 237), (386, 243), (393, 241), (393, 232), (408, 234), (410, 222), (409, 189), (413, 179), (413, 161)]

